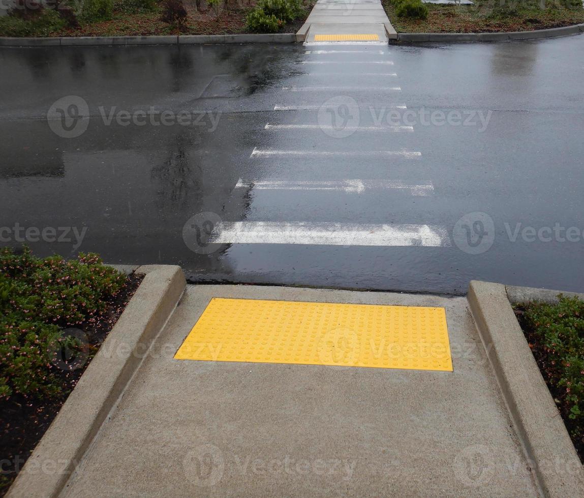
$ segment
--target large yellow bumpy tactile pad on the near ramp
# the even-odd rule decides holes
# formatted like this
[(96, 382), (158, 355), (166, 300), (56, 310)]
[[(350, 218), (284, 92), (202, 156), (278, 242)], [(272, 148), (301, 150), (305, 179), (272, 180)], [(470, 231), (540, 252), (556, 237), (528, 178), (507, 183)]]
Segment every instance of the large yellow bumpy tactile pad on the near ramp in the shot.
[(213, 298), (178, 360), (452, 371), (444, 308)]

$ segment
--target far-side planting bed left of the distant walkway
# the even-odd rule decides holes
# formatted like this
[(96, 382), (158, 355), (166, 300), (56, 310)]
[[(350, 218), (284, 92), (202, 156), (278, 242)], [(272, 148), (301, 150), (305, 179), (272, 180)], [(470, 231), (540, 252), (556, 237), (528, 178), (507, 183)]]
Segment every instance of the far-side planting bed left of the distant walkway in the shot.
[[(27, 0), (30, 1), (30, 0)], [(95, 0), (94, 0), (95, 1)], [(107, 0), (105, 0), (107, 1)], [(151, 36), (177, 34), (296, 33), (316, 0), (232, 0), (197, 7), (186, 0), (114, 0), (98, 15), (36, 9), (0, 18), (0, 36)], [(201, 4), (201, 2), (199, 2)], [(252, 17), (253, 16), (253, 17)]]

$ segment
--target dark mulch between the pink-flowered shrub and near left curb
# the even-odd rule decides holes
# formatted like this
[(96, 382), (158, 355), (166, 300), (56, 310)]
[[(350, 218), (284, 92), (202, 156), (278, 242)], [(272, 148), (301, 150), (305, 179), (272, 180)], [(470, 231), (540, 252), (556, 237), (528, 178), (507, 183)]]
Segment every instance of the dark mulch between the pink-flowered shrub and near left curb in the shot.
[[(95, 356), (107, 334), (116, 324), (121, 313), (142, 281), (142, 276), (128, 276), (126, 286), (112, 301), (106, 312), (99, 318), (92, 318), (78, 328), (89, 337), (89, 357)], [(67, 400), (69, 392), (77, 384), (89, 361), (83, 367), (71, 372), (63, 371), (68, 390), (60, 399), (31, 399), (22, 395), (12, 395), (0, 401), (0, 497), (8, 492), (8, 487), (22, 469), (34, 447), (50, 426), (51, 422)]]

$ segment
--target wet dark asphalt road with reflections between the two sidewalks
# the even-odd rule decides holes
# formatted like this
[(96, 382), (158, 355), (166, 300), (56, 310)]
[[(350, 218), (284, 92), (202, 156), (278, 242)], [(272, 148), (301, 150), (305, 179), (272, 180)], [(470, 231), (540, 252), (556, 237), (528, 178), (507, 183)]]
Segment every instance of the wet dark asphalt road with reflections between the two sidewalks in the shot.
[[(0, 66), (2, 245), (192, 281), (584, 291), (584, 36), (3, 48)], [(206, 245), (218, 221), (274, 222), (294, 243)], [(331, 223), (345, 245), (319, 243)], [(432, 236), (403, 242), (404, 225)], [(354, 245), (360, 227), (383, 245)]]

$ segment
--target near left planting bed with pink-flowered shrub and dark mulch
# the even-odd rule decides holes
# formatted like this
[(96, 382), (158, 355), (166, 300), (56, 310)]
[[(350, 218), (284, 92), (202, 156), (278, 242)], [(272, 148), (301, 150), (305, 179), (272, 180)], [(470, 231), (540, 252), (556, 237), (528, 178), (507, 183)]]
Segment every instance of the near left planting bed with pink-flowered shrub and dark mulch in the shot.
[(0, 249), (0, 496), (141, 280), (92, 254), (65, 261)]

